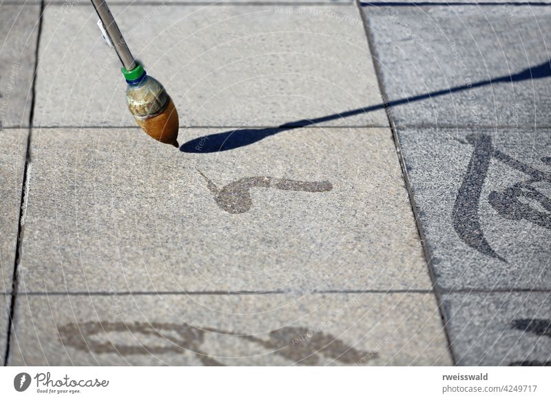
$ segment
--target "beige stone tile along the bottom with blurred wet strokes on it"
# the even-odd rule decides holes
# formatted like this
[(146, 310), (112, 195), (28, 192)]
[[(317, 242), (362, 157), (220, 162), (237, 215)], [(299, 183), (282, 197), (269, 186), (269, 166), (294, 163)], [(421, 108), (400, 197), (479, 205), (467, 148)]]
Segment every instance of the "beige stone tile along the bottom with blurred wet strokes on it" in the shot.
[(432, 293), (19, 296), (14, 329), (10, 365), (450, 364)]

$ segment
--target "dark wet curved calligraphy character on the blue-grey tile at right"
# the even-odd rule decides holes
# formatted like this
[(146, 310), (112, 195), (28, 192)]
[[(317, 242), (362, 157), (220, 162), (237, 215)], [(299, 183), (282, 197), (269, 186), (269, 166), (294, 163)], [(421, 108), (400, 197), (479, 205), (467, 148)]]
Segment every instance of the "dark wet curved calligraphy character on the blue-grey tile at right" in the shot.
[[(534, 187), (534, 184), (539, 182), (551, 183), (551, 174), (532, 168), (497, 150), (492, 144), (490, 135), (468, 135), (466, 143), (471, 144), (475, 149), (455, 199), (453, 227), (461, 240), (473, 249), (486, 256), (506, 261), (492, 249), (486, 240), (478, 214), (482, 188), (484, 188), (484, 181), (486, 181), (492, 157), (530, 177), (526, 181), (518, 182), (499, 192), (495, 190), (490, 192), (488, 203), (506, 219), (515, 221), (526, 219), (526, 221), (551, 229), (551, 199)], [(541, 161), (551, 165), (550, 157), (543, 157)], [(537, 201), (543, 210), (533, 208), (523, 199)]]

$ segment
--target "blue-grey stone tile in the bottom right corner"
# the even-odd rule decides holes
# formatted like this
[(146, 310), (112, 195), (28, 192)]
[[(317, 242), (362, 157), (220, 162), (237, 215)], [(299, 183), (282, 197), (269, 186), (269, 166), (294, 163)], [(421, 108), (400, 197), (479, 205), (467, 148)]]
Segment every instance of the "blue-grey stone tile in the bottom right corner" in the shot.
[(443, 302), (458, 365), (551, 365), (549, 292), (454, 293)]

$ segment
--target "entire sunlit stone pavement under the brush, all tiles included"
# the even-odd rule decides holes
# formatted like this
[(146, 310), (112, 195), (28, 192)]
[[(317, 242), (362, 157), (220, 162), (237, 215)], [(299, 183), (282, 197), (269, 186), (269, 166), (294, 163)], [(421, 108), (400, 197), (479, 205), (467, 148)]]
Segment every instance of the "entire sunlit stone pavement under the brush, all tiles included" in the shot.
[[(6, 365), (551, 363), (551, 3), (0, 4)], [(34, 74), (36, 71), (36, 74)]]

